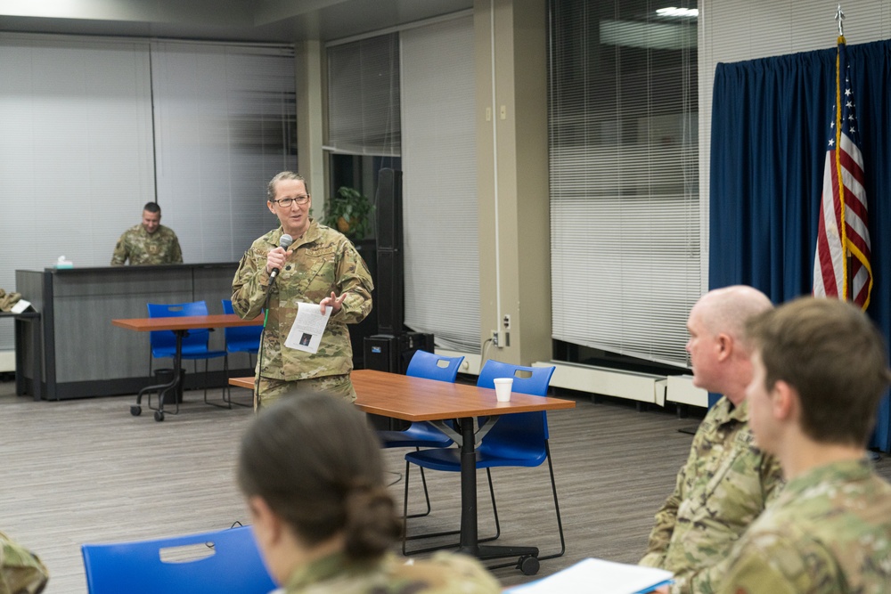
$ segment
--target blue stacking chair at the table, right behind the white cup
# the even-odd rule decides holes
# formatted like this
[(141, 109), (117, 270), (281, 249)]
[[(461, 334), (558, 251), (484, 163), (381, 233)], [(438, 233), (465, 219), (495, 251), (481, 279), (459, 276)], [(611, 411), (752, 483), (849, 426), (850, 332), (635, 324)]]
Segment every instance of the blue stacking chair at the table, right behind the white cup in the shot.
[[(495, 378), (513, 378), (513, 392), (545, 396), (551, 384), (553, 367), (522, 367), (503, 363), (486, 361), (477, 379), (478, 387), (495, 387)], [(479, 424), (484, 425), (486, 419), (480, 418)], [(560, 552), (538, 557), (550, 559), (560, 557), (566, 552), (566, 541), (563, 538), (563, 522), (560, 519), (560, 503), (557, 500), (557, 484), (554, 482), (554, 471), (551, 462), (551, 448), (548, 444), (548, 418), (544, 411), (518, 412), (503, 415), (491, 430), (483, 437), (477, 448), (477, 469), (486, 468), (486, 477), (489, 482), (489, 494), (492, 498), (492, 511), (495, 514), (495, 537), (501, 534), (501, 525), (498, 521), (498, 509), (495, 506), (495, 488), (492, 484), (491, 468), (506, 467), (536, 467), (544, 460), (548, 462), (551, 474), (551, 489), (554, 498), (554, 509), (557, 512), (557, 528), (560, 533)], [(423, 450), (405, 454), (405, 497), (408, 497), (409, 467), (417, 464), (421, 469), (442, 470), (445, 472), (461, 472), (461, 451), (457, 448), (446, 450)], [(405, 504), (407, 509), (407, 502)], [(430, 534), (432, 536), (433, 534)], [(437, 534), (438, 535), (438, 534)], [(492, 539), (486, 539), (492, 540)], [(405, 541), (404, 541), (405, 543)], [(429, 549), (425, 549), (429, 550)], [(421, 552), (421, 551), (414, 551)], [(512, 565), (512, 564), (511, 564)]]

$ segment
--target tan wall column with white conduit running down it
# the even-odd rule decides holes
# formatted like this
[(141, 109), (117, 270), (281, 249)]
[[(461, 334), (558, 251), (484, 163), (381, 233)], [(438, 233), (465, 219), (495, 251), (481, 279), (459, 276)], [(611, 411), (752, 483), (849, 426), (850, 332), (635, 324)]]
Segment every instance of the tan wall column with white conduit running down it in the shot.
[(546, 23), (545, 0), (474, 2), (480, 338), (522, 365), (552, 354)]

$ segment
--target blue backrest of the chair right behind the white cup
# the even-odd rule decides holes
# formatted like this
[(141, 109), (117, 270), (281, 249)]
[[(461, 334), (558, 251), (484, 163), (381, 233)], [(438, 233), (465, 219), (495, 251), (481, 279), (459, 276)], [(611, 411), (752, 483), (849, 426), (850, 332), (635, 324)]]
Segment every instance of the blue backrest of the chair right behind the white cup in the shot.
[[(495, 378), (513, 378), (513, 392), (546, 396), (554, 367), (523, 367), (489, 359), (479, 370), (478, 387), (495, 387)], [(480, 452), (499, 457), (545, 460), (548, 417), (544, 411), (503, 415), (479, 444)]]

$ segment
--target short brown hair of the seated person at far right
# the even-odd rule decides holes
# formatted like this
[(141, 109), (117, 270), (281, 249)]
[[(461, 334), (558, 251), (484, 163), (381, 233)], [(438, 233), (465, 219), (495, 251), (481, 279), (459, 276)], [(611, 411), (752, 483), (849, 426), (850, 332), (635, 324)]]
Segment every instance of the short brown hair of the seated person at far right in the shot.
[(801, 297), (748, 322), (764, 363), (764, 387), (793, 387), (801, 429), (820, 443), (862, 446), (891, 380), (879, 330), (838, 299)]

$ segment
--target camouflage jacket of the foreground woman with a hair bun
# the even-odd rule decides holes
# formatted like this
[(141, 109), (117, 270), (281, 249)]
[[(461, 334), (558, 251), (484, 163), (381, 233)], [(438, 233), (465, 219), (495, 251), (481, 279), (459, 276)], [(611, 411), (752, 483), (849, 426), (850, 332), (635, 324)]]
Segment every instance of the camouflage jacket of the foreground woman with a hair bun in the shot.
[(476, 559), (439, 552), (425, 561), (388, 553), (379, 561), (350, 563), (341, 553), (299, 567), (285, 594), (496, 594), (501, 586)]

